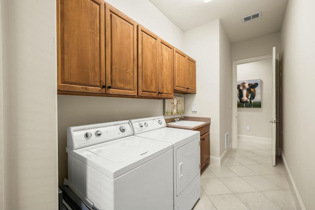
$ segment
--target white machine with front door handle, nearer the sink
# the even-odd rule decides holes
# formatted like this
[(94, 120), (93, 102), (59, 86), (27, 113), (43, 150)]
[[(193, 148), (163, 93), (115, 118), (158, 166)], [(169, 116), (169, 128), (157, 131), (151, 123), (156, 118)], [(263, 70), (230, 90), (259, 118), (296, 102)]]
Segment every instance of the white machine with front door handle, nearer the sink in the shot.
[(130, 120), (134, 135), (173, 144), (174, 210), (200, 198), (200, 132), (166, 127), (163, 117)]

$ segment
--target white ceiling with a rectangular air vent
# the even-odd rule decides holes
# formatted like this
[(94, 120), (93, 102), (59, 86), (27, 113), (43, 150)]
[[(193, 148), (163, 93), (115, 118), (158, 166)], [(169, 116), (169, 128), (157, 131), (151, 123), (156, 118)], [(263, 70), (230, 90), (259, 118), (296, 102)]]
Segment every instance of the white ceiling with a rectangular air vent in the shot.
[[(184, 32), (220, 19), (231, 43), (279, 32), (288, 0), (149, 0)], [(242, 18), (261, 11), (261, 18)]]

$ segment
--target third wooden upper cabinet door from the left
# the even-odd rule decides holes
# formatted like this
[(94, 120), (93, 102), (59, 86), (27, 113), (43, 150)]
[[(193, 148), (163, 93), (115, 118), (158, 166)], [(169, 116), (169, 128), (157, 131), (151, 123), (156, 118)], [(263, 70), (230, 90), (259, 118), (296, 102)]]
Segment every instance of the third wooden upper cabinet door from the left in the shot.
[(159, 38), (138, 26), (138, 95), (159, 96)]

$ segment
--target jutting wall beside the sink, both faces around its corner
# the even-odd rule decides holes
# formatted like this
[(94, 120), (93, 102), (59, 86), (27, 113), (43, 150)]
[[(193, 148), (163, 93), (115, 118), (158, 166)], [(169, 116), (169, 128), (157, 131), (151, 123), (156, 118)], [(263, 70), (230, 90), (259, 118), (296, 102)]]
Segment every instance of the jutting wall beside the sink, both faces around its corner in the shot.
[(231, 133), (231, 49), (220, 20), (185, 32), (184, 49), (196, 60), (197, 85), (197, 94), (185, 95), (185, 115), (211, 118), (210, 162), (220, 166), (224, 134)]

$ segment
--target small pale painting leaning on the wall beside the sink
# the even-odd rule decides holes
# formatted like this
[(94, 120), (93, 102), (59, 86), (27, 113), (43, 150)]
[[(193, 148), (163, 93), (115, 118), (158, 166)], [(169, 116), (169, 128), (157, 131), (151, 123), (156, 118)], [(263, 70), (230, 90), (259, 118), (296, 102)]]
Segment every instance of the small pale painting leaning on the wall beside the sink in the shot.
[(172, 99), (164, 99), (163, 114), (164, 115), (184, 114), (184, 97), (174, 95)]

